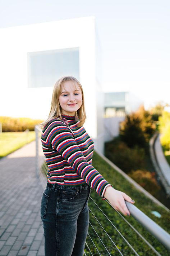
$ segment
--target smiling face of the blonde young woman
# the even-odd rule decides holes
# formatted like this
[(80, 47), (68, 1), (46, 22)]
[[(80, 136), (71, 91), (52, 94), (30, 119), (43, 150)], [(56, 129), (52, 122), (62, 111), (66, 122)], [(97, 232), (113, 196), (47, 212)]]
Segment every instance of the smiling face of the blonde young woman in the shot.
[(79, 85), (75, 85), (72, 81), (65, 81), (61, 85), (59, 103), (62, 114), (75, 116), (75, 112), (82, 105), (82, 93)]

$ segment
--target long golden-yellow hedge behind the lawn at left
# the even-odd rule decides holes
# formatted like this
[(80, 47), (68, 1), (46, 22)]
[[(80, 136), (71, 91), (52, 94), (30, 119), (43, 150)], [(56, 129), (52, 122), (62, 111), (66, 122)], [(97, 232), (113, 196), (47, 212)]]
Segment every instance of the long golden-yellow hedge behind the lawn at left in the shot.
[(34, 131), (36, 124), (41, 123), (42, 120), (34, 120), (31, 118), (11, 118), (8, 116), (0, 116), (0, 123), (2, 123), (3, 132), (23, 132), (26, 129)]

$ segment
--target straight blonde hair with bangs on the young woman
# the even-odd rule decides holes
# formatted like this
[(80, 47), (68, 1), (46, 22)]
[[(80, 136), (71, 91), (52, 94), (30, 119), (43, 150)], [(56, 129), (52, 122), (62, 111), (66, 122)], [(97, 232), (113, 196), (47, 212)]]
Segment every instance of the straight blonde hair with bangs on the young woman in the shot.
[(61, 114), (62, 114), (62, 109), (59, 103), (59, 96), (61, 94), (61, 85), (63, 85), (66, 81), (72, 81), (76, 87), (76, 85), (79, 86), (81, 93), (82, 93), (82, 105), (81, 107), (77, 110), (76, 116), (78, 117), (80, 123), (78, 124), (78, 127), (81, 127), (85, 120), (86, 120), (86, 111), (84, 107), (84, 94), (83, 94), (83, 88), (81, 83), (74, 78), (73, 76), (63, 76), (60, 78), (58, 81), (56, 81), (52, 93), (52, 100), (51, 100), (51, 109), (49, 116), (47, 120), (45, 120), (43, 123), (41, 123), (41, 127), (43, 127), (45, 124), (50, 122), (53, 118), (60, 118), (61, 119)]

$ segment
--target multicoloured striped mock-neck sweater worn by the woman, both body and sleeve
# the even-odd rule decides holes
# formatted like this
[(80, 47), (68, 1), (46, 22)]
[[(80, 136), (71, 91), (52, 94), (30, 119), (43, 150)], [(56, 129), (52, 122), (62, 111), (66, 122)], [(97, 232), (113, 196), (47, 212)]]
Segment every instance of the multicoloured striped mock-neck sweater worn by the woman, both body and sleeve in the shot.
[(88, 184), (103, 197), (110, 184), (92, 166), (94, 144), (75, 116), (62, 115), (43, 127), (41, 141), (50, 184)]

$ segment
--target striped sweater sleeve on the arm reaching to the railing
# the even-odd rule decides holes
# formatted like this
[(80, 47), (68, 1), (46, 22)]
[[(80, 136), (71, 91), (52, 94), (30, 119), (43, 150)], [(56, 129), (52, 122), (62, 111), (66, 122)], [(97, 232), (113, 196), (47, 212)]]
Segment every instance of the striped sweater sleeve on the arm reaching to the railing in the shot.
[[(50, 127), (51, 126), (51, 127)], [(102, 175), (90, 165), (82, 151), (77, 146), (73, 133), (60, 121), (52, 122), (48, 127), (50, 133), (47, 138), (52, 148), (69, 163), (74, 171), (83, 178), (86, 183), (103, 197), (106, 187), (110, 186)]]

